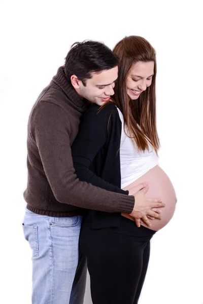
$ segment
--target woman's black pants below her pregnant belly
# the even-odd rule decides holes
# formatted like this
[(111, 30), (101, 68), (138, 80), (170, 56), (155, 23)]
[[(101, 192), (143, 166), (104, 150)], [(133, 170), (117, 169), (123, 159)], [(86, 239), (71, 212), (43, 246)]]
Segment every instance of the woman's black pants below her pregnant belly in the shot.
[(80, 247), (87, 256), (93, 304), (138, 303), (154, 234), (123, 216), (116, 228), (93, 230), (90, 218), (84, 220)]

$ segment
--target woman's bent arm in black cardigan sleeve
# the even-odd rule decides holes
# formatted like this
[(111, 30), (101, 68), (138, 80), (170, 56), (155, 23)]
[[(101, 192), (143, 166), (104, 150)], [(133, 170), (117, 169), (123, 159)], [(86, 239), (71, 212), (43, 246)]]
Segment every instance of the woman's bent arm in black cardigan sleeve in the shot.
[(79, 180), (111, 192), (128, 195), (128, 191), (101, 179), (89, 169), (96, 154), (106, 143), (109, 117), (113, 109), (115, 106), (112, 104), (98, 112), (99, 106), (93, 104), (83, 116), (78, 135), (72, 145), (74, 168)]

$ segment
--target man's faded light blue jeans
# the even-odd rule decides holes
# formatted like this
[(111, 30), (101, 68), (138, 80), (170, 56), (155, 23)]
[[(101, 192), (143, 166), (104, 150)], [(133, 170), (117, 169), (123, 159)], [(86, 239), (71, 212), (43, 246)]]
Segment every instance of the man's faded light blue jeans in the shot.
[(50, 217), (26, 208), (25, 239), (32, 249), (32, 304), (83, 304), (86, 258), (79, 252), (82, 216)]

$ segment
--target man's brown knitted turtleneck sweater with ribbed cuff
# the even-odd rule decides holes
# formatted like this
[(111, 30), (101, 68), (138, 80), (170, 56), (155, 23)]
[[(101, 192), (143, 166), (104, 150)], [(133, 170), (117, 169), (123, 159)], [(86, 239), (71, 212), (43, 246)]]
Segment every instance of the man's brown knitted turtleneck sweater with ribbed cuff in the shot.
[(85, 101), (60, 67), (33, 105), (27, 134), (27, 208), (48, 216), (83, 213), (82, 208), (131, 213), (134, 197), (79, 181), (71, 145), (78, 133)]

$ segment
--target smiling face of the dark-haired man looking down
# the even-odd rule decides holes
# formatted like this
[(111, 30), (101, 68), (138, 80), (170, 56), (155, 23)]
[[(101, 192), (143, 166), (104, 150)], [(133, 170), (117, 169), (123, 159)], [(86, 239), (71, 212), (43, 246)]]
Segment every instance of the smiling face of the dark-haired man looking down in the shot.
[(115, 81), (118, 78), (118, 66), (111, 69), (93, 72), (92, 78), (86, 80), (86, 86), (79, 81), (78, 94), (87, 100), (103, 105), (114, 95)]

